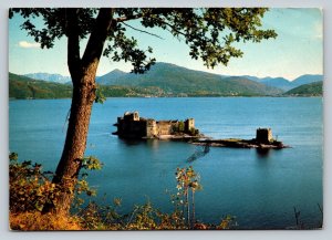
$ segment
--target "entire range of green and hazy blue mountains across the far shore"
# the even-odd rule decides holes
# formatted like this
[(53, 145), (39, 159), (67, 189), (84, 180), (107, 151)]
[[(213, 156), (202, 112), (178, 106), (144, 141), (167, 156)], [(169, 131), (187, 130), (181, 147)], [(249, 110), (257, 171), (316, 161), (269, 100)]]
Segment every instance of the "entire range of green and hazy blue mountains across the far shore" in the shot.
[[(28, 84), (29, 87), (27, 84), (24, 85), (24, 82), (18, 82), (17, 80), (19, 77), (27, 77), (30, 81)], [(40, 90), (44, 92), (49, 91), (44, 83), (41, 83), (42, 81), (39, 82), (35, 80), (53, 83), (55, 85), (52, 87), (56, 86), (55, 88), (58, 90), (62, 87), (60, 85), (70, 85), (63, 83), (71, 83), (69, 76), (48, 73), (33, 73), (24, 76), (10, 73), (10, 80), (11, 79), (17, 81), (10, 85), (10, 88), (14, 87), (15, 92), (19, 91), (19, 86), (23, 85), (25, 91), (31, 91), (33, 84), (34, 87), (37, 87), (37, 85), (42, 86)], [(105, 96), (276, 96), (282, 95), (287, 91), (300, 85), (320, 82), (322, 80), (322, 75), (309, 74), (299, 76), (293, 81), (283, 77), (218, 75), (163, 62), (153, 65), (145, 74), (133, 74), (121, 70), (113, 70), (105, 75), (96, 77), (96, 82), (105, 92)], [(61, 84), (58, 85), (59, 83)], [(44, 90), (44, 87), (46, 88)], [(315, 90), (317, 87), (318, 86), (315, 86)], [(312, 87), (310, 88), (313, 90)], [(39, 88), (37, 87), (37, 90)], [(65, 90), (68, 91), (68, 88)], [(24, 92), (21, 88), (20, 91), (21, 93)], [(40, 95), (40, 92), (37, 91), (37, 93)], [(32, 93), (30, 93), (29, 97), (31, 94)], [(307, 95), (308, 94), (310, 95), (310, 93), (307, 93)], [(317, 91), (313, 95), (317, 95)]]

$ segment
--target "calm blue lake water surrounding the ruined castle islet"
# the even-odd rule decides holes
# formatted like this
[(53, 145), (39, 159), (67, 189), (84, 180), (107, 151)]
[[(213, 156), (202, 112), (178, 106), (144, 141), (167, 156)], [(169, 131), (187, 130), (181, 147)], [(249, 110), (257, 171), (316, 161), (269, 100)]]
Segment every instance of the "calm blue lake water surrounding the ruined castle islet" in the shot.
[[(60, 159), (70, 100), (10, 101), (10, 152), (20, 159), (41, 163), (54, 170)], [(138, 111), (155, 119), (194, 117), (196, 127), (214, 138), (253, 138), (256, 128), (271, 127), (274, 137), (292, 148), (270, 150), (211, 148), (188, 164), (198, 146), (167, 140), (125, 142), (111, 135), (117, 116)], [(104, 164), (90, 174), (112, 202), (121, 197), (123, 212), (146, 200), (172, 211), (169, 191), (176, 192), (175, 170), (191, 165), (203, 190), (196, 192), (196, 218), (218, 223), (226, 215), (237, 217), (239, 228), (288, 228), (295, 225), (293, 207), (307, 227), (322, 216), (323, 167), (322, 98), (320, 97), (193, 97), (107, 98), (95, 104), (86, 156)]]

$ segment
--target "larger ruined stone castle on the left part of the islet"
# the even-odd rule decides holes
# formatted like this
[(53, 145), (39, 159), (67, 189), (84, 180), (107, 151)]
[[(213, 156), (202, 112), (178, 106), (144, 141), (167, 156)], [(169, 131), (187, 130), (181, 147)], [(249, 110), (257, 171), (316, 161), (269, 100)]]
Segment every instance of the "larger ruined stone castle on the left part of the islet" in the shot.
[(114, 135), (128, 139), (191, 140), (204, 137), (195, 128), (194, 118), (155, 121), (139, 117), (137, 111), (124, 113), (122, 117), (117, 117), (114, 126), (117, 127), (117, 131), (113, 133)]

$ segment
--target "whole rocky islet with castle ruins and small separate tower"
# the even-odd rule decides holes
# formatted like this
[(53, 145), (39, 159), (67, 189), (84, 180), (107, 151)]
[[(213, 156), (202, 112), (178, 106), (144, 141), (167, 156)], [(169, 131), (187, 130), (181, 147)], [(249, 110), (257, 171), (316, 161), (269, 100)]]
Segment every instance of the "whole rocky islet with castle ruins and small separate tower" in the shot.
[(273, 138), (271, 128), (258, 128), (256, 131), (256, 138), (252, 139), (212, 139), (200, 134), (199, 129), (195, 128), (194, 118), (187, 118), (185, 121), (155, 121), (153, 118), (139, 117), (137, 111), (124, 113), (122, 117), (117, 117), (117, 122), (114, 126), (117, 127), (117, 131), (112, 134), (124, 139), (186, 140), (190, 144), (206, 147), (258, 149), (281, 149), (289, 147)]

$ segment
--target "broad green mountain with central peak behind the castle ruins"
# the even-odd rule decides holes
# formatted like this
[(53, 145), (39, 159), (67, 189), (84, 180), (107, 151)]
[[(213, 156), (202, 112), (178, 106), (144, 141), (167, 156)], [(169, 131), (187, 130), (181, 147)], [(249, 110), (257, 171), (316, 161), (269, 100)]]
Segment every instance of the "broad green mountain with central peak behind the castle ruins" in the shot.
[(276, 95), (282, 91), (250, 81), (246, 77), (225, 77), (189, 70), (170, 63), (156, 63), (145, 74), (116, 71), (97, 79), (104, 85), (159, 87), (168, 95), (188, 96), (243, 96)]

